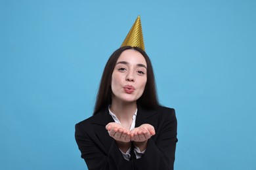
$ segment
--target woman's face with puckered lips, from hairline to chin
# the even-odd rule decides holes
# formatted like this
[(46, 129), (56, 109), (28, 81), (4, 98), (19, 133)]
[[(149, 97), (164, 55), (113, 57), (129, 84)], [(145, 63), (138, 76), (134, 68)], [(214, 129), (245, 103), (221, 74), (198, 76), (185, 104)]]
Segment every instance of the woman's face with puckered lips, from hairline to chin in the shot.
[(112, 73), (112, 102), (137, 101), (146, 86), (146, 60), (136, 50), (125, 50), (117, 59)]

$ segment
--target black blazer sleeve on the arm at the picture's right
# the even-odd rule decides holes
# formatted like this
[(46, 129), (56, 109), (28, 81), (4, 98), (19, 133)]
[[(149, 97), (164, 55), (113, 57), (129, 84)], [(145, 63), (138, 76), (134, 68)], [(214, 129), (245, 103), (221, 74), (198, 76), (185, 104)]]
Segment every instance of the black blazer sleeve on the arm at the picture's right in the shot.
[(146, 152), (135, 160), (135, 169), (173, 169), (177, 143), (177, 119), (174, 109), (164, 109), (154, 139), (148, 140)]

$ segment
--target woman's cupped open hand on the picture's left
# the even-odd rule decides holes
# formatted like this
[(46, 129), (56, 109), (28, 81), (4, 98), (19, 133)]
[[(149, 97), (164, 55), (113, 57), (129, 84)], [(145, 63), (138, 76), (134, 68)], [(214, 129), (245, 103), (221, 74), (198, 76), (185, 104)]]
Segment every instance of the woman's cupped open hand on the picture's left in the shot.
[(106, 129), (110, 137), (113, 137), (116, 141), (123, 143), (129, 143), (131, 141), (130, 131), (121, 126), (121, 124), (110, 122), (106, 125)]

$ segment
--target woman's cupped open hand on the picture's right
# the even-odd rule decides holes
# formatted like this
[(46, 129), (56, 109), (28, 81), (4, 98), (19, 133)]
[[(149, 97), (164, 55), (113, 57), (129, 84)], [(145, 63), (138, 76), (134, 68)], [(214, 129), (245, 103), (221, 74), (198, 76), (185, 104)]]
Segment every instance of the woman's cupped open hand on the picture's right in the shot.
[(131, 141), (144, 142), (148, 141), (152, 135), (155, 135), (156, 131), (154, 126), (150, 124), (142, 124), (131, 130)]

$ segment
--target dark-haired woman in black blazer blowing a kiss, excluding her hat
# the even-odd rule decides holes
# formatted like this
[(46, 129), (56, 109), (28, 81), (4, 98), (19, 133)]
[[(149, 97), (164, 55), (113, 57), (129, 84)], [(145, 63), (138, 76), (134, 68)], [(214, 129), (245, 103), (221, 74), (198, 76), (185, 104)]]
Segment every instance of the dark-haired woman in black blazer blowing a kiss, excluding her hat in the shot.
[(123, 46), (110, 56), (95, 112), (75, 125), (75, 139), (88, 169), (173, 169), (175, 110), (159, 105), (144, 50)]

